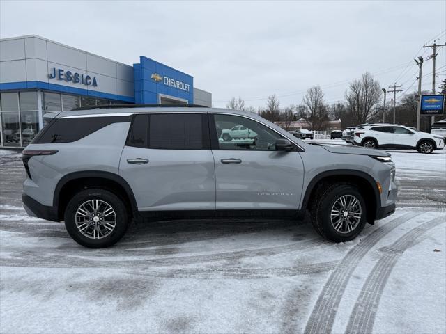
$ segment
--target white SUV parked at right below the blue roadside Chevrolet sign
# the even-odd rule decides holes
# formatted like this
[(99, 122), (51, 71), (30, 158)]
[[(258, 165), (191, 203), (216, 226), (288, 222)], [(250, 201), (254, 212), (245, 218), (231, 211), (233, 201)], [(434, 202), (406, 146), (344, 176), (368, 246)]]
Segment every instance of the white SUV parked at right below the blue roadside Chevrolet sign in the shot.
[(400, 148), (431, 153), (445, 147), (442, 136), (421, 132), (403, 125), (362, 125), (355, 129), (353, 140), (366, 148)]

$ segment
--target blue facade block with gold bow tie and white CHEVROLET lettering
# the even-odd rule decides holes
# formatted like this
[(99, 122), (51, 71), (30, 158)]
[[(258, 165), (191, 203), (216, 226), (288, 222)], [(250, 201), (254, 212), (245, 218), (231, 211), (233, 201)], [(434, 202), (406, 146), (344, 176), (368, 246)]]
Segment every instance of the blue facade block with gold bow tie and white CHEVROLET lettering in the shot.
[(194, 103), (192, 76), (144, 56), (139, 61), (133, 64), (135, 103), (157, 104), (160, 97)]

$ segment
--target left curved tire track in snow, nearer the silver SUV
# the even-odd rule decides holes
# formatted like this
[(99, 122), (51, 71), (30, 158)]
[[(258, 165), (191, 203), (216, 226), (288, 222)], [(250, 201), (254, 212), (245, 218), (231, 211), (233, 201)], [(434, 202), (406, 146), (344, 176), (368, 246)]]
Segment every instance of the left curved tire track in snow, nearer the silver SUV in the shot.
[[(367, 254), (367, 252), (375, 246), (385, 234), (394, 230), (402, 223), (410, 221), (410, 219), (420, 216), (422, 212), (408, 212), (392, 219), (380, 228), (371, 232), (364, 239), (353, 247), (346, 256), (339, 262), (337, 269), (335, 269), (327, 282), (325, 283), (321, 294), (319, 294), (316, 305), (312, 310), (305, 326), (305, 333), (330, 333), (336, 316), (337, 307), (341, 301), (342, 295), (346, 289), (348, 280), (359, 264), (360, 260)], [(289, 332), (288, 325), (284, 331)]]

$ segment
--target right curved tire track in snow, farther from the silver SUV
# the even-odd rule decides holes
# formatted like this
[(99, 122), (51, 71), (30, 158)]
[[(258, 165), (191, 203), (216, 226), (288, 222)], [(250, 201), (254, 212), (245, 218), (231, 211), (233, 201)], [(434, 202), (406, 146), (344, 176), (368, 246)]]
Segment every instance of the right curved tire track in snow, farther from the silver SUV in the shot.
[(380, 248), (383, 255), (381, 255), (380, 260), (375, 264), (362, 286), (360, 296), (357, 297), (348, 321), (346, 333), (372, 333), (380, 298), (399, 257), (408, 248), (420, 243), (424, 239), (422, 237), (424, 233), (444, 222), (444, 218), (435, 218), (422, 223), (417, 228), (413, 228), (413, 230), (404, 234), (391, 246)]

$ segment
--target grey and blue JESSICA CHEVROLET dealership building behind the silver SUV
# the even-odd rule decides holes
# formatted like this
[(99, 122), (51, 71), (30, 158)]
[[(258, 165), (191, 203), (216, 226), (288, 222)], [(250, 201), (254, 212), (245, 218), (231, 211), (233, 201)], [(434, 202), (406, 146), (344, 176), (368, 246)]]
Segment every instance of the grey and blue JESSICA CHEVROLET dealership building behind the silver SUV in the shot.
[(0, 146), (21, 148), (43, 115), (99, 104), (199, 104), (194, 77), (151, 58), (126, 65), (36, 35), (0, 40)]

